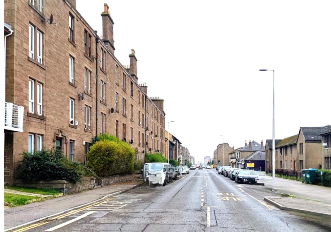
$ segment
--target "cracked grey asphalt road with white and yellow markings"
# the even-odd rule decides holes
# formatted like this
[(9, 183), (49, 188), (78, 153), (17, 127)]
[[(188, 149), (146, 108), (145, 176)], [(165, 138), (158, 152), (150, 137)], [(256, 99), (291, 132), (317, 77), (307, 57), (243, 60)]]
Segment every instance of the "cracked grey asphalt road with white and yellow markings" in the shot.
[(165, 187), (141, 186), (18, 231), (330, 231), (267, 205), (267, 194), (196, 169)]

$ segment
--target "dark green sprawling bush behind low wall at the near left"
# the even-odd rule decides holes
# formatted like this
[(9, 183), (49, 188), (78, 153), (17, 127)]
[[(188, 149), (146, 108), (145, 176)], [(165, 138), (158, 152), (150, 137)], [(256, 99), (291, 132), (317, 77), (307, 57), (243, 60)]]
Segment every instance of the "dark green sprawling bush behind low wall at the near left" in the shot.
[(18, 178), (27, 181), (66, 180), (79, 182), (83, 176), (95, 176), (80, 162), (71, 162), (61, 150), (23, 152), (18, 166)]

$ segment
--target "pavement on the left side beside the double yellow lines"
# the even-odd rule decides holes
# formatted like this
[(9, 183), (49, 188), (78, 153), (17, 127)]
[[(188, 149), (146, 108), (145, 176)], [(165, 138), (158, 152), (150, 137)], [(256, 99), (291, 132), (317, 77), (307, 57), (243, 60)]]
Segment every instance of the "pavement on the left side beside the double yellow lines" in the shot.
[(92, 201), (101, 199), (108, 194), (127, 190), (140, 183), (141, 182), (130, 182), (108, 185), (102, 188), (96, 188), (76, 194), (69, 194), (46, 201), (34, 202), (14, 208), (7, 208), (4, 211), (4, 229), (6, 230), (8, 228), (22, 225), (42, 217), (47, 217), (49, 215), (65, 211), (82, 204), (90, 203)]

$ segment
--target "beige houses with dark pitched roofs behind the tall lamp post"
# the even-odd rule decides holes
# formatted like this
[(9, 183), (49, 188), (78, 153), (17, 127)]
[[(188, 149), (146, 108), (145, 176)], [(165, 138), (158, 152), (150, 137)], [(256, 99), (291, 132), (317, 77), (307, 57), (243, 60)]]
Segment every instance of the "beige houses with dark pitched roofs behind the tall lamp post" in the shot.
[[(275, 169), (322, 168), (322, 164), (325, 164), (322, 151), (327, 151), (322, 148), (322, 136), (330, 128), (330, 125), (300, 127), (298, 134), (275, 140)], [(267, 140), (265, 154), (266, 170), (270, 172), (272, 170), (272, 140)]]

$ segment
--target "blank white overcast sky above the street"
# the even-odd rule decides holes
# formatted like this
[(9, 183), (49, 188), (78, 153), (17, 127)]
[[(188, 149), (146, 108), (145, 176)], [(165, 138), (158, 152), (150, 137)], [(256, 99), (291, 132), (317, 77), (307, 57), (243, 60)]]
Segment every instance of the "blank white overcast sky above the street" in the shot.
[(136, 51), (139, 83), (196, 162), (220, 134), (235, 148), (272, 138), (272, 72), (259, 69), (275, 69), (276, 139), (331, 124), (330, 1), (93, 2), (78, 11), (102, 35), (108, 3), (115, 55), (128, 65)]

